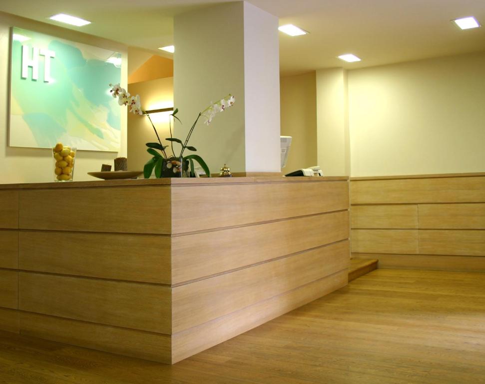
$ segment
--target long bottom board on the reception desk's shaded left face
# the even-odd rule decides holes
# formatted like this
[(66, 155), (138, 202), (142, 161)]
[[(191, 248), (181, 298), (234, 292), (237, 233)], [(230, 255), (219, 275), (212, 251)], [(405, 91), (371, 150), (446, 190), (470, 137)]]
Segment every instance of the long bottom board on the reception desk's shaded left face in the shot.
[(20, 312), (20, 333), (169, 364), (170, 336)]

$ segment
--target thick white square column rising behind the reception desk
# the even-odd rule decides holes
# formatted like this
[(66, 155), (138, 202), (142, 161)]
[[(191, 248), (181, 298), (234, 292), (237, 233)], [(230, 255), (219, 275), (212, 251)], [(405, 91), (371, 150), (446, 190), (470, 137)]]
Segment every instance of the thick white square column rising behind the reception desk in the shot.
[(236, 104), (209, 126), (197, 124), (190, 145), (212, 172), (280, 170), (278, 19), (245, 1), (183, 13), (174, 19), (174, 105), (183, 139), (211, 101), (232, 93)]

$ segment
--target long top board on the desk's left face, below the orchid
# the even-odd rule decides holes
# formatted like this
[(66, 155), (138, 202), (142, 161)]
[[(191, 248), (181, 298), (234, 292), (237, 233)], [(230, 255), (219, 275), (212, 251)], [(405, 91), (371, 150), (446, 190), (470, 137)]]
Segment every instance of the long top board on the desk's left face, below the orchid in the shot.
[(25, 189), (19, 227), (94, 232), (170, 233), (168, 185)]

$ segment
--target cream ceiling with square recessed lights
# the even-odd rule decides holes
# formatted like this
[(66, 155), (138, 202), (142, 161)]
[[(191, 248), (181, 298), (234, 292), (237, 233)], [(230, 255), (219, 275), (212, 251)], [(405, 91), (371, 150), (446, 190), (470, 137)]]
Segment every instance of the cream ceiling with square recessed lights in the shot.
[[(0, 10), (47, 19), (63, 12), (92, 21), (71, 27), (85, 33), (156, 51), (172, 43), (173, 16), (223, 0), (16, 0)], [(276, 15), (280, 25), (310, 32), (280, 32), (281, 74), (342, 66), (359, 68), (485, 50), (485, 0), (249, 0)], [(451, 19), (474, 15), (484, 26), (460, 30)], [(159, 51), (158, 51), (159, 52)], [(362, 58), (345, 63), (336, 56)]]

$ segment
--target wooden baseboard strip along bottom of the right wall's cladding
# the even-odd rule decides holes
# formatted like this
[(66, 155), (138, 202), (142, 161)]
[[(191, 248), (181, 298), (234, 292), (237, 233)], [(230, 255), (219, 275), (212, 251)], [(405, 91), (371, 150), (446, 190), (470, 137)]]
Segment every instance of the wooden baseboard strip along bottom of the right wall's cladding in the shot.
[(352, 253), (352, 257), (364, 259), (377, 258), (379, 259), (379, 267), (384, 269), (485, 272), (485, 257), (483, 256)]

